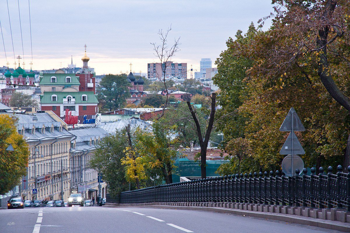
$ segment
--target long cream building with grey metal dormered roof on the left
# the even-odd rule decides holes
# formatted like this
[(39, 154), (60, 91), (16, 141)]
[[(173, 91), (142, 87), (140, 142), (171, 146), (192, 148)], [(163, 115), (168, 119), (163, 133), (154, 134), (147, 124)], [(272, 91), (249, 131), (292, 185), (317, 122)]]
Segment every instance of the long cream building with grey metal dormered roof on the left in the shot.
[[(52, 112), (16, 114), (17, 129), (26, 139), (30, 156), (22, 180), (23, 199), (66, 200), (70, 195), (70, 141), (74, 137)], [(33, 193), (37, 189), (37, 193)], [(61, 190), (63, 197), (61, 196)]]

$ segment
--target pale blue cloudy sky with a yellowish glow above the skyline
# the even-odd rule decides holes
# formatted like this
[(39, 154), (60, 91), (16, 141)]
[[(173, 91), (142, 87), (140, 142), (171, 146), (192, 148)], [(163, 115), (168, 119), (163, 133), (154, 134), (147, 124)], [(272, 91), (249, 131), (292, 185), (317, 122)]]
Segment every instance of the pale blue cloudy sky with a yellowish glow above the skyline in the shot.
[[(159, 62), (151, 43), (159, 44), (159, 30), (166, 30), (170, 25), (169, 45), (178, 37), (181, 43), (172, 61), (187, 63), (188, 69), (193, 65), (194, 71), (199, 71), (201, 58), (211, 58), (215, 66), (214, 61), (226, 49), (229, 37), (234, 37), (237, 30), (246, 32), (251, 22), (257, 25), (260, 18), (273, 12), (271, 0), (29, 2), (31, 42), (28, 0), (19, 0), (19, 6), (18, 1), (8, 1), (12, 46), (7, 3), (0, 0), (1, 29), (9, 67), (14, 67), (14, 57), (23, 57), (24, 53), (25, 69), (29, 69), (31, 48), (33, 70), (67, 67), (71, 56), (73, 64), (81, 67), (86, 44), (89, 66), (95, 68), (97, 75), (130, 71), (130, 63), (133, 72), (147, 72), (147, 63)], [(263, 29), (270, 25), (271, 21), (267, 21)], [(0, 66), (6, 66), (6, 57), (0, 45)]]

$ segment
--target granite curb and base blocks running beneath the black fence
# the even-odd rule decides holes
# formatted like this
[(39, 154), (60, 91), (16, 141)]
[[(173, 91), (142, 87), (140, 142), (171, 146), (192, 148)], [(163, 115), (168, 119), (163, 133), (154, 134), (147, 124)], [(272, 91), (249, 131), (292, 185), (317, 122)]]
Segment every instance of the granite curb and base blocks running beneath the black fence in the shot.
[[(152, 207), (152, 208), (158, 208), (158, 209), (181, 209), (181, 210), (199, 210), (199, 211), (211, 211), (211, 212), (219, 212), (219, 213), (231, 213), (231, 214), (236, 214), (236, 215), (240, 215), (240, 216), (265, 218), (265, 219), (271, 219), (271, 220), (284, 221), (284, 222), (288, 222), (288, 223), (295, 223), (295, 224), (302, 224), (302, 225), (327, 228), (327, 229), (337, 230), (337, 231), (342, 231), (342, 232), (350, 232), (350, 223), (344, 223), (344, 222), (334, 221), (334, 220), (317, 219), (317, 218), (313, 218), (313, 216), (305, 217), (303, 215), (299, 216), (299, 215), (288, 214), (288, 213), (280, 214), (277, 212), (271, 213), (271, 212), (241, 210), (240, 208), (239, 209), (232, 209), (232, 208), (225, 208), (225, 207), (211, 207), (210, 204), (209, 204), (209, 207), (183, 205), (185, 203), (182, 203), (182, 204), (179, 203), (179, 205), (177, 205), (176, 203), (171, 203), (172, 205), (162, 205), (162, 204), (164, 204), (164, 203), (145, 203), (145, 204), (140, 203), (140, 204), (132, 204), (132, 205), (131, 204), (117, 204), (117, 203), (109, 203), (107, 205), (107, 203), (106, 203), (106, 205), (104, 205), (104, 206), (105, 207), (119, 207), (119, 208), (138, 206), (138, 207)], [(189, 203), (186, 203), (186, 204), (189, 204)], [(235, 204), (238, 204), (238, 203), (235, 203)], [(234, 207), (236, 207), (236, 206), (234, 206)], [(253, 206), (253, 207), (255, 207), (255, 206)], [(260, 207), (260, 205), (259, 205), (259, 207)], [(274, 206), (274, 207), (283, 207), (283, 206)], [(276, 209), (281, 209), (281, 208), (276, 208)], [(307, 212), (309, 212), (309, 211), (307, 211)], [(321, 213), (320, 211), (317, 211), (317, 212)]]

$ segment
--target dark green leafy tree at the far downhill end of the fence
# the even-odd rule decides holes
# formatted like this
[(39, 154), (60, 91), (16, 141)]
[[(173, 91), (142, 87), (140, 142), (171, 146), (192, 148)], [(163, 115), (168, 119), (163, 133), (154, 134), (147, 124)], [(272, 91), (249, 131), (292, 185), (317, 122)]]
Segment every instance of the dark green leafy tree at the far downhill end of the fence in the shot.
[(102, 173), (113, 196), (129, 189), (125, 178), (125, 165), (121, 162), (121, 159), (126, 156), (124, 151), (127, 146), (125, 130), (117, 131), (116, 134), (102, 138), (89, 162), (89, 167)]

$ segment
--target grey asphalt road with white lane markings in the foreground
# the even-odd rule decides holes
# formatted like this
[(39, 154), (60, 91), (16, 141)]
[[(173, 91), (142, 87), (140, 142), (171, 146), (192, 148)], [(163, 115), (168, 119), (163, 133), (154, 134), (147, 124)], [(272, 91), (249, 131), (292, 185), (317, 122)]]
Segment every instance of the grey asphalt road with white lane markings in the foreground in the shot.
[(72, 206), (0, 210), (0, 232), (338, 233), (339, 231), (206, 211)]

